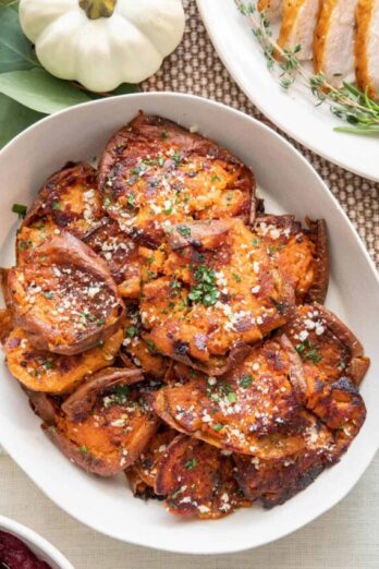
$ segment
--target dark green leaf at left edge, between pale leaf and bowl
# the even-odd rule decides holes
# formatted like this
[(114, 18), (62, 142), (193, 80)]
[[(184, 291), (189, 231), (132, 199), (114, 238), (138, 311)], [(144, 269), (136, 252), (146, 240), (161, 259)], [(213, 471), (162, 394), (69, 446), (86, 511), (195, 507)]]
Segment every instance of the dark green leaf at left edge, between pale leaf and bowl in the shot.
[(0, 147), (44, 117), (45, 114), (27, 109), (0, 94)]

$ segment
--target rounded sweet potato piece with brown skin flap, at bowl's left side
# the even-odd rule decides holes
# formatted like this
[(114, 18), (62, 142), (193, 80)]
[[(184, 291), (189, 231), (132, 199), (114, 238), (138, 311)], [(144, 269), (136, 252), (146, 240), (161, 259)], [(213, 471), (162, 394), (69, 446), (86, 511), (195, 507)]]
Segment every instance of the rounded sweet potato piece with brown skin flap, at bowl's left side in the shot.
[[(38, 271), (36, 271), (37, 266), (39, 266)], [(114, 306), (108, 311), (106, 319), (98, 320), (101, 322), (101, 325), (95, 326), (88, 323), (86, 328), (82, 326), (82, 330), (76, 330), (73, 324), (71, 328), (70, 325), (66, 325), (66, 339), (63, 339), (63, 324), (61, 326), (57, 326), (54, 323), (49, 324), (45, 317), (41, 318), (38, 312), (36, 313), (36, 311), (33, 310), (30, 300), (25, 304), (25, 300), (27, 300), (28, 296), (25, 294), (24, 283), (29, 286), (27, 282), (27, 274), (29, 273), (29, 276), (37, 278), (37, 273), (38, 275), (42, 275), (41, 270), (45, 268), (46, 286), (48, 286), (49, 290), (51, 289), (54, 294), (56, 283), (59, 282), (57, 277), (54, 277), (54, 267), (58, 267), (58, 270), (59, 267), (66, 267), (66, 274), (73, 273), (74, 276), (77, 271), (82, 271), (82, 274), (87, 276), (88, 280), (90, 277), (99, 283), (99, 292), (101, 294), (105, 295), (107, 291), (108, 298), (114, 299)], [(61, 286), (64, 288), (64, 282), (62, 282)], [(40, 246), (35, 253), (34, 263), (27, 264), (24, 267), (11, 268), (8, 276), (8, 288), (11, 307), (15, 315), (15, 324), (21, 326), (29, 335), (32, 342), (37, 349), (49, 350), (53, 353), (72, 355), (89, 350), (112, 336), (120, 328), (124, 318), (124, 304), (118, 293), (117, 286), (109, 274), (107, 265), (102, 259), (97, 257), (87, 245), (70, 233), (57, 235), (52, 238), (49, 243)], [(68, 289), (64, 294), (71, 292), (72, 291)], [(53, 311), (53, 302), (50, 302), (51, 299), (48, 300), (40, 287), (38, 293), (36, 293), (32, 300), (35, 302), (37, 299), (41, 303), (41, 306), (47, 306), (47, 313), (49, 313), (49, 310)], [(89, 299), (85, 299), (83, 302), (85, 307), (90, 306)], [(71, 306), (70, 303), (69, 306)], [(102, 310), (100, 305), (98, 310)], [(61, 319), (60, 322), (63, 320)]]

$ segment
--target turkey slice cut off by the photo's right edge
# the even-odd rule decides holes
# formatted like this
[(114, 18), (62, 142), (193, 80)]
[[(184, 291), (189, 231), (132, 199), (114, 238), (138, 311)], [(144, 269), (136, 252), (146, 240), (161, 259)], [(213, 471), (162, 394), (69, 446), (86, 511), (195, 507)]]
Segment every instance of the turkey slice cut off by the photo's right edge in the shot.
[(357, 83), (371, 98), (379, 99), (379, 0), (359, 0), (356, 22)]

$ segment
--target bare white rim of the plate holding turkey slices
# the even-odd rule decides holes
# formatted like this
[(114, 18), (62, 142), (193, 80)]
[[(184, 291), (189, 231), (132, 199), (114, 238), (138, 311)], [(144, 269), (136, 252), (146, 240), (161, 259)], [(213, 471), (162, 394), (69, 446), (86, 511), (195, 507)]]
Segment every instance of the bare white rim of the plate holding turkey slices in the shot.
[(234, 0), (197, 0), (197, 4), (221, 60), (261, 112), (320, 156), (379, 180), (378, 138), (333, 132), (334, 126), (344, 123), (327, 106), (315, 107), (315, 99), (296, 88), (284, 92), (268, 71), (261, 48)]

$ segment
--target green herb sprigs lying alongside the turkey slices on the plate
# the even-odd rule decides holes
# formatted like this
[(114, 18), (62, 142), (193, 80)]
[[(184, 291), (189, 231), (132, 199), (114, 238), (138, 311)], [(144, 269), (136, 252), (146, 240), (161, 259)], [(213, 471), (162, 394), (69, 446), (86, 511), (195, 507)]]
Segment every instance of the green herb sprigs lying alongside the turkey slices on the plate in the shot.
[(301, 45), (285, 49), (272, 37), (270, 22), (265, 12), (259, 12), (253, 2), (234, 0), (239, 11), (248, 19), (252, 32), (262, 48), (269, 70), (279, 69), (280, 85), (290, 89), (295, 82), (310, 90), (316, 106), (326, 104), (330, 111), (346, 122), (337, 126), (338, 132), (360, 135), (379, 135), (379, 105), (354, 85), (343, 82), (341, 88), (328, 83), (323, 73), (309, 73), (298, 59)]

